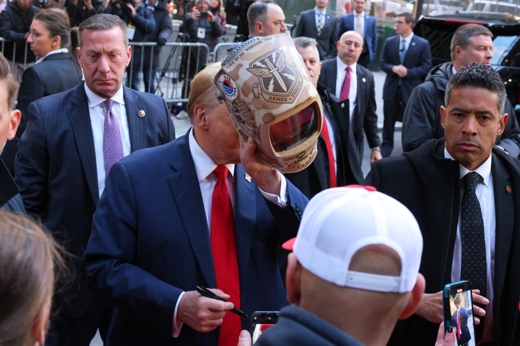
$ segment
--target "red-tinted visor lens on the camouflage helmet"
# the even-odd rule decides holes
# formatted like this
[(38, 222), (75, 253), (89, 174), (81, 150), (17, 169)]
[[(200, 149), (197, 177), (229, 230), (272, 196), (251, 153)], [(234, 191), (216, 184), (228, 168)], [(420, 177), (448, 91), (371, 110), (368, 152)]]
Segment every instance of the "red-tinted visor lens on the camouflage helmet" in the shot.
[(295, 148), (312, 136), (318, 127), (316, 103), (269, 127), (269, 139), (276, 152)]

